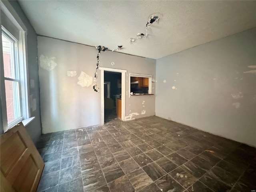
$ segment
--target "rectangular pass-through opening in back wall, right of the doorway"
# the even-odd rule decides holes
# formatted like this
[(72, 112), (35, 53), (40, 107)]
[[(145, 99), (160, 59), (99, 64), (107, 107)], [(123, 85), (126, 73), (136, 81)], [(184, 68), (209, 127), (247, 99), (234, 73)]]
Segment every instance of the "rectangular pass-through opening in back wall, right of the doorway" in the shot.
[(142, 74), (130, 74), (130, 96), (151, 94), (151, 88), (152, 76)]

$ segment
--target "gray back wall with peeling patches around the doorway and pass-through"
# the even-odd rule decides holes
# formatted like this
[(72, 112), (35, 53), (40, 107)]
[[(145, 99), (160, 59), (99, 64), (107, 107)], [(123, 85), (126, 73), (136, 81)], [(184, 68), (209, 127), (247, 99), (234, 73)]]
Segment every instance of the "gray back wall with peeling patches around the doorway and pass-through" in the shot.
[[(94, 92), (92, 84), (88, 87), (78, 84), (81, 71), (94, 76), (97, 53), (94, 47), (38, 36), (39, 65), (45, 64), (48, 69), (39, 67), (43, 133), (101, 124), (100, 92)], [(112, 66), (111, 62), (115, 65)], [(56, 65), (52, 70), (48, 68), (50, 63)], [(139, 114), (133, 118), (154, 115), (155, 96), (128, 97), (128, 74), (147, 74), (155, 78), (156, 60), (107, 51), (100, 54), (100, 66), (127, 70), (125, 116), (132, 113)], [(76, 71), (77, 75), (68, 76), (67, 71)], [(152, 83), (152, 87), (155, 87), (155, 83)], [(146, 110), (146, 114), (141, 114), (142, 110)]]

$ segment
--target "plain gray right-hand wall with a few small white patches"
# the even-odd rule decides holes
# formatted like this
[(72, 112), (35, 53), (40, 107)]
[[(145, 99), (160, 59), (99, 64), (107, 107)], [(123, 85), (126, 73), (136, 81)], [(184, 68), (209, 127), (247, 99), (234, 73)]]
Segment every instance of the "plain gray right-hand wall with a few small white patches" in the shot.
[(256, 146), (255, 67), (256, 28), (160, 58), (156, 116)]

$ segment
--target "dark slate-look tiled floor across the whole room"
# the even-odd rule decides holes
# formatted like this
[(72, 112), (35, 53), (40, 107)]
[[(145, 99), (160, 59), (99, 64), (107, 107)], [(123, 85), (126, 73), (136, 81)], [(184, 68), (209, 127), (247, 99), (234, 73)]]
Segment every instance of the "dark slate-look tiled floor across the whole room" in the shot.
[(44, 134), (38, 191), (250, 192), (256, 148), (156, 116)]

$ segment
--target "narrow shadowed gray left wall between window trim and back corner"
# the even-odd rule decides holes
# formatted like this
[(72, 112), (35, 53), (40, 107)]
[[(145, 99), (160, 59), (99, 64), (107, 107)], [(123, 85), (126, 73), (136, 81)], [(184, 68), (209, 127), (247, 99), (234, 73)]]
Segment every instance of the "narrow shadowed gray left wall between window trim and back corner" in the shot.
[(27, 36), (27, 46), (28, 46), (28, 76), (29, 80), (34, 80), (34, 88), (30, 86), (29, 92), (30, 96), (36, 100), (36, 109), (35, 107), (30, 110), (31, 116), (36, 117), (28, 126), (26, 130), (32, 138), (33, 142), (36, 142), (41, 133), (41, 119), (40, 119), (40, 98), (39, 98), (39, 78), (38, 78), (38, 60), (37, 60), (37, 35), (30, 24), (28, 18), (24, 14), (23, 10), (20, 8), (20, 5), (17, 1), (9, 1), (14, 10), (20, 16), (20, 19), (25, 24), (28, 30)]

